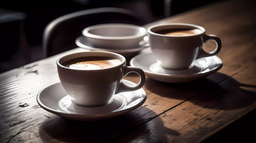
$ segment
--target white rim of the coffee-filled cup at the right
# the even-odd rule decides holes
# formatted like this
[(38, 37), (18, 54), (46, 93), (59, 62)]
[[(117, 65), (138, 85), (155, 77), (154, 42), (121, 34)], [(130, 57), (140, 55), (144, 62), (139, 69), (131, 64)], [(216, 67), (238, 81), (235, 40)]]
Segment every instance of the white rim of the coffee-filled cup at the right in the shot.
[[(151, 29), (155, 28), (155, 27), (162, 27), (162, 26), (168, 26), (168, 25), (179, 25), (179, 26), (188, 26), (188, 27), (193, 27), (194, 29), (200, 29), (202, 32), (198, 33), (198, 34), (194, 34), (194, 35), (164, 35), (164, 34), (158, 34), (155, 32), (152, 32)], [(168, 29), (168, 28), (166, 28)], [(161, 30), (161, 29), (158, 29)], [(205, 28), (199, 26), (199, 25), (194, 25), (194, 24), (189, 24), (189, 23), (161, 23), (161, 24), (156, 24), (156, 25), (152, 25), (148, 28), (148, 33), (152, 34), (152, 35), (158, 35), (158, 36), (165, 36), (165, 37), (193, 37), (193, 36), (197, 36), (197, 35), (201, 35), (203, 33), (205, 33)]]

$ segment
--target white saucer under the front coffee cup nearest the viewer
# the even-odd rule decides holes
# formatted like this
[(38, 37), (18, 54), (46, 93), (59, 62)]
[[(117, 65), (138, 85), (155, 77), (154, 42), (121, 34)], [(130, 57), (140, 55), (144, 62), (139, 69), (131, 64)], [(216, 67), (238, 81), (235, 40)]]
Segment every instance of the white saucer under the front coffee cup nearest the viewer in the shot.
[[(136, 85), (122, 80), (127, 85)], [(141, 106), (147, 98), (143, 88), (113, 95), (108, 104), (99, 107), (83, 107), (72, 102), (60, 82), (42, 89), (37, 95), (37, 103), (45, 110), (70, 120), (104, 120), (125, 114)]]

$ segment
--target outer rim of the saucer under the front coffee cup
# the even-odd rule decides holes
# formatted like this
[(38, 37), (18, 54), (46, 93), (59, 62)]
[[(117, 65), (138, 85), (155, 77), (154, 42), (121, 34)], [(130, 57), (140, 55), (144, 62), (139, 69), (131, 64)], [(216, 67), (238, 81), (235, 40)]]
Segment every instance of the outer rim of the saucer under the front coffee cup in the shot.
[[(130, 83), (132, 83), (132, 84), (135, 84), (135, 83), (133, 83), (133, 82), (131, 82), (131, 81), (128, 81), (128, 80), (125, 80), (125, 79), (123, 79), (123, 80), (126, 81), (126, 82), (130, 82)], [(48, 85), (48, 86), (44, 87), (43, 89), (41, 89), (41, 91), (39, 91), (39, 93), (37, 94), (37, 103), (39, 104), (39, 106), (41, 106), (43, 109), (47, 110), (48, 112), (51, 112), (51, 113), (56, 114), (56, 115), (58, 115), (58, 116), (62, 116), (62, 117), (64, 117), (64, 118), (69, 118), (69, 119), (72, 119), (72, 120), (92, 120), (92, 119), (94, 119), (94, 120), (101, 120), (101, 118), (111, 118), (111, 117), (115, 117), (115, 116), (118, 116), (118, 115), (120, 115), (120, 114), (124, 114), (124, 113), (130, 112), (130, 111), (132, 111), (132, 110), (138, 108), (138, 107), (141, 106), (141, 105), (146, 101), (146, 99), (147, 99), (147, 93), (146, 93), (146, 91), (145, 91), (143, 88), (141, 88), (141, 89), (139, 89), (139, 90), (142, 90), (142, 92), (143, 92), (143, 95), (144, 95), (144, 96), (143, 96), (143, 100), (141, 100), (141, 102), (139, 102), (138, 104), (136, 104), (135, 106), (132, 106), (132, 107), (130, 107), (130, 108), (127, 108), (127, 109), (124, 109), (124, 110), (119, 110), (119, 111), (117, 111), (117, 112), (107, 112), (107, 113), (105, 113), (105, 114), (76, 114), (76, 113), (67, 113), (67, 112), (64, 112), (64, 111), (58, 111), (58, 110), (55, 110), (55, 109), (53, 109), (53, 108), (49, 108), (47, 105), (43, 104), (43, 103), (41, 102), (41, 100), (39, 99), (40, 94), (41, 94), (45, 89), (47, 89), (47, 88), (49, 88), (49, 87), (51, 87), (51, 86), (53, 86), (53, 85), (57, 85), (57, 84), (61, 84), (61, 82), (58, 81), (58, 82), (52, 83), (51, 85)], [(63, 90), (64, 90), (64, 89), (63, 89)], [(68, 94), (66, 94), (66, 95), (68, 95)], [(62, 98), (64, 98), (64, 97), (62, 97)], [(123, 97), (123, 98), (125, 98), (125, 97)], [(91, 108), (93, 108), (93, 107), (91, 107)], [(98, 119), (96, 119), (96, 117), (98, 117)], [(76, 119), (75, 119), (75, 118), (76, 118)]]

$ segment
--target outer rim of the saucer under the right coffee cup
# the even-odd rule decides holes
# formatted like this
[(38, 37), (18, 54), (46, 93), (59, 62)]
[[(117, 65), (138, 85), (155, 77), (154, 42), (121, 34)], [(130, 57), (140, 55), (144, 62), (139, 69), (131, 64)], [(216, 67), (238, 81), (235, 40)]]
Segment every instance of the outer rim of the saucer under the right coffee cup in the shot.
[[(152, 54), (152, 52), (151, 52), (151, 51), (150, 51), (150, 52), (145, 52), (145, 53), (138, 54), (138, 55), (134, 56), (134, 57), (131, 59), (131, 61), (130, 61), (130, 65), (131, 65), (131, 66), (135, 66), (135, 65), (133, 64), (133, 61), (135, 61), (135, 59), (136, 59), (137, 57), (144, 56), (145, 54)], [(216, 72), (216, 71), (218, 71), (218, 70), (220, 70), (220, 69), (222, 68), (223, 62), (222, 62), (221, 58), (219, 58), (217, 55), (214, 55), (214, 56), (215, 56), (216, 58), (218, 58), (219, 61), (221, 61), (221, 65), (220, 65), (219, 67), (217, 67), (216, 69), (211, 70), (211, 71), (209, 71), (209, 72), (205, 72), (205, 73), (201, 73), (201, 72), (203, 72), (203, 71), (201, 71), (201, 72), (199, 72), (199, 73), (186, 74), (186, 75), (171, 75), (171, 74), (164, 74), (164, 73), (156, 73), (156, 72), (152, 72), (152, 71), (145, 70), (145, 69), (143, 69), (143, 68), (142, 68), (142, 70), (146, 73), (146, 75), (160, 76), (160, 77), (186, 78), (186, 77), (197, 77), (197, 76), (199, 76), (199, 75), (200, 75), (200, 76), (204, 76), (204, 75), (209, 75), (209, 74), (211, 74), (211, 73), (213, 73), (213, 72)], [(153, 64), (154, 64), (154, 63), (153, 63)], [(139, 67), (139, 68), (141, 68), (141, 67)]]

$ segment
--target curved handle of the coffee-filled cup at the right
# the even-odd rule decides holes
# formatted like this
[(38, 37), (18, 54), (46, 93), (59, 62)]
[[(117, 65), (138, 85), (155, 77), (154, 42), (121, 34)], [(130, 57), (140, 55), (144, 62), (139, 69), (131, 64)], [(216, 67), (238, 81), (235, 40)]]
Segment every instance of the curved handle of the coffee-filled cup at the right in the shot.
[(203, 48), (201, 48), (201, 51), (199, 52), (197, 59), (207, 57), (207, 56), (213, 56), (215, 54), (218, 54), (219, 51), (221, 50), (221, 39), (219, 39), (219, 37), (217, 37), (216, 35), (205, 35), (203, 43), (206, 43), (208, 40), (215, 41), (216, 43), (215, 50), (211, 52), (205, 52)]

